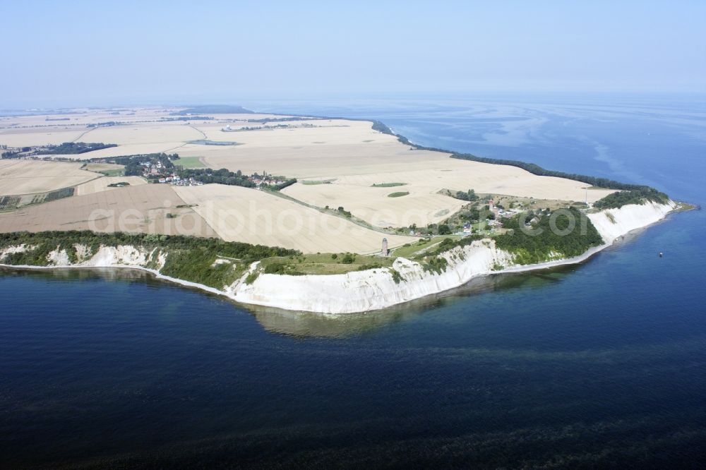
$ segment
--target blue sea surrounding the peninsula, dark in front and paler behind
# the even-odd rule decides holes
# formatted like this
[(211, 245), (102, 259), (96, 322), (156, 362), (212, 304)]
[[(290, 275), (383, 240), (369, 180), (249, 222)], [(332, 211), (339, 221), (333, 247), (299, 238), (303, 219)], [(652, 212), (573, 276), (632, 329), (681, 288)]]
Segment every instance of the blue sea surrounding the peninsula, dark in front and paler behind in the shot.
[[(704, 97), (242, 104), (706, 203)], [(674, 214), (582, 265), (340, 318), (2, 270), (0, 467), (703, 468), (704, 229)]]

